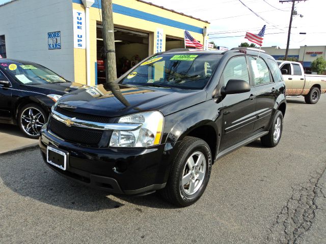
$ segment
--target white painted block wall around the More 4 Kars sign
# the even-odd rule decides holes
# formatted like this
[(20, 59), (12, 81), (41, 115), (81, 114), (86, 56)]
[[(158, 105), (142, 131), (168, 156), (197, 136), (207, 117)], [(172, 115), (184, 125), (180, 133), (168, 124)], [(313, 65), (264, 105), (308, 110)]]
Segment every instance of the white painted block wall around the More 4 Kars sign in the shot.
[[(47, 33), (61, 32), (61, 49), (48, 50)], [(74, 80), (71, 0), (16, 0), (0, 7), (7, 58), (39, 63)]]

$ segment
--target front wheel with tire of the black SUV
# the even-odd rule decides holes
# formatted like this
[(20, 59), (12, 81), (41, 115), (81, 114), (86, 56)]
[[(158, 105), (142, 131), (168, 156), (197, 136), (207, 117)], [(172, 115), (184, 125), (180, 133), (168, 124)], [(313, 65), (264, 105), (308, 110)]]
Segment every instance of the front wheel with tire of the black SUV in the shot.
[(204, 193), (210, 177), (212, 158), (208, 144), (196, 137), (185, 137), (176, 148), (170, 177), (160, 194), (168, 202), (185, 207)]

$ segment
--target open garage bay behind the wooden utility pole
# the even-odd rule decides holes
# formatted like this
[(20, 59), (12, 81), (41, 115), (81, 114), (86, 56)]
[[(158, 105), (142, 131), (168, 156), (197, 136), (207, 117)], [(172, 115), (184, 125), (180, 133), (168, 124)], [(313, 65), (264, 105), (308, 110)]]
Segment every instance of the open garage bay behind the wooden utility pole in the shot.
[[(131, 31), (129, 29), (114, 28), (116, 49), (117, 76), (120, 77), (131, 67), (138, 64), (149, 55), (149, 34)], [(105, 83), (104, 44), (102, 25), (96, 28), (97, 44), (97, 83)]]

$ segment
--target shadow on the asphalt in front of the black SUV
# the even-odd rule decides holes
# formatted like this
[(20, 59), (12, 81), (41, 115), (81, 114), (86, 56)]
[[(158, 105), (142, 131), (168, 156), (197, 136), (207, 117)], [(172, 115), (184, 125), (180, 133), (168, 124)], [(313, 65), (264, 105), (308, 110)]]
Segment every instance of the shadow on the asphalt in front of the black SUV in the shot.
[(53, 206), (91, 212), (118, 208), (126, 201), (153, 208), (174, 208), (158, 194), (113, 197), (66, 179), (45, 165), (38, 149), (2, 156), (0, 165), (0, 177), (10, 190)]

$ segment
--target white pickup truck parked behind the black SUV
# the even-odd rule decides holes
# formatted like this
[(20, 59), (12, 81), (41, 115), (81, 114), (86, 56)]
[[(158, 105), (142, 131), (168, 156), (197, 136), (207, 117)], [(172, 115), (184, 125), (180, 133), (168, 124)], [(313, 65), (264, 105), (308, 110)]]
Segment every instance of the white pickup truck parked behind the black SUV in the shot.
[(316, 104), (326, 93), (326, 75), (307, 75), (300, 63), (277, 60), (286, 85), (287, 96), (304, 96), (308, 104)]

